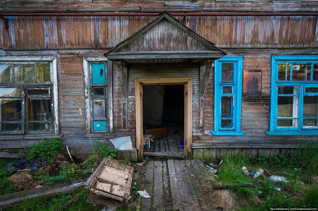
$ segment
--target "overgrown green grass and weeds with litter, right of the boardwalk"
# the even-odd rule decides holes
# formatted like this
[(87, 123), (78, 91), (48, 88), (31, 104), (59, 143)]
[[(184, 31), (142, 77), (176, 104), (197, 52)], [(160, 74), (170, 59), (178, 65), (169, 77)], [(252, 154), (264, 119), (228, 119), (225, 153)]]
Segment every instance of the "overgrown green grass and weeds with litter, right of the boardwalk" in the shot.
[[(302, 144), (294, 154), (260, 155), (257, 158), (223, 156), (220, 159), (223, 164), (218, 168), (218, 176), (208, 172), (201, 181), (201, 200), (212, 199), (216, 206), (224, 206), (224, 210), (318, 207), (318, 148), (315, 143)], [(243, 166), (249, 172), (266, 169), (273, 175), (287, 177), (289, 182), (273, 182), (268, 175), (248, 178), (242, 171)], [(213, 185), (220, 184), (253, 184), (257, 188), (232, 188), (223, 192), (212, 189)]]

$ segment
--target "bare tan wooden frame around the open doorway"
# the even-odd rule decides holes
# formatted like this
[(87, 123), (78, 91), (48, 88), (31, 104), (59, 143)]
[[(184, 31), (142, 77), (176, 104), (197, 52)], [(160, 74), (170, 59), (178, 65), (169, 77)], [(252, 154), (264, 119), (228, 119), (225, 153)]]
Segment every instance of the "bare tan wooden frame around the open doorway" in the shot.
[(142, 85), (184, 84), (184, 159), (192, 157), (192, 77), (135, 79), (136, 148), (138, 160), (143, 160)]

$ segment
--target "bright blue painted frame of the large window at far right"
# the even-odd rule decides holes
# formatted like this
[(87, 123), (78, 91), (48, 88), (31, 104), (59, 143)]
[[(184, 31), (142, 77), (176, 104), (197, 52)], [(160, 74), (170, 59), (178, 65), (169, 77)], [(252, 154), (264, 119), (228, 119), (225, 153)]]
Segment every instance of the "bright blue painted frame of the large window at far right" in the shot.
[[(318, 56), (272, 56), (271, 67), (271, 111), (270, 111), (270, 125), (269, 131), (266, 131), (268, 135), (318, 135), (318, 128), (303, 128), (303, 96), (308, 95), (305, 93), (306, 87), (318, 87), (318, 81), (279, 81), (278, 80), (278, 63), (279, 62), (308, 62), (317, 63)], [(311, 71), (311, 79), (313, 78), (313, 65)], [(292, 65), (291, 65), (292, 77)], [(291, 78), (290, 78), (291, 79)], [(299, 86), (299, 106), (298, 106), (298, 128), (278, 128), (277, 127), (277, 97), (278, 86), (281, 85), (293, 85)], [(311, 93), (310, 96), (317, 95), (317, 93)], [(287, 96), (287, 95), (285, 95)], [(294, 96), (294, 95), (288, 95)]]

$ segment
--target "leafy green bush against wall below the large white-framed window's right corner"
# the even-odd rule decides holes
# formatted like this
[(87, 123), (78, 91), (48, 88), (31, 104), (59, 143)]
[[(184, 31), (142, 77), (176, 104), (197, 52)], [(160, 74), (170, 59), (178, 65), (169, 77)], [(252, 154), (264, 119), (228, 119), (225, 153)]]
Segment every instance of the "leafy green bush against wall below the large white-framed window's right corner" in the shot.
[(54, 157), (63, 149), (61, 141), (64, 139), (61, 138), (50, 138), (45, 142), (40, 142), (39, 144), (33, 144), (30, 149), (27, 160), (33, 161), (38, 157), (45, 157), (48, 162), (54, 161)]

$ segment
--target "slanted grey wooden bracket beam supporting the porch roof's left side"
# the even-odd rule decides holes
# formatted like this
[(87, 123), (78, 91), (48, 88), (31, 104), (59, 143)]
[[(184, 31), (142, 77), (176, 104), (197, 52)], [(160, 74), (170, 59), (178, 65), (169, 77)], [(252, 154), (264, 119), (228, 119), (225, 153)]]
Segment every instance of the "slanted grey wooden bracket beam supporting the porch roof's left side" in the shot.
[(121, 60), (115, 61), (121, 82), (121, 89), (123, 95), (123, 125), (128, 128), (128, 70), (127, 64)]

